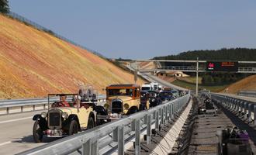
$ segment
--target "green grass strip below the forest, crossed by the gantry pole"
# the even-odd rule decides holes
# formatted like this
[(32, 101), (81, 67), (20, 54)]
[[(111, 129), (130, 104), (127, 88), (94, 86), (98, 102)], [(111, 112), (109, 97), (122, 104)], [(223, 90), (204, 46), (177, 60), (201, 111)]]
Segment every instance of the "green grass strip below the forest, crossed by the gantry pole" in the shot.
[[(192, 83), (189, 83), (186, 81), (175, 80), (171, 84), (178, 85), (182, 88), (188, 88), (188, 89), (195, 90), (195, 84), (192, 84)], [(222, 91), (223, 89), (227, 88), (228, 85), (229, 84), (216, 85), (216, 86), (205, 86), (205, 85), (199, 84), (199, 90), (206, 88), (207, 90), (212, 91), (212, 92), (219, 92), (219, 91)]]

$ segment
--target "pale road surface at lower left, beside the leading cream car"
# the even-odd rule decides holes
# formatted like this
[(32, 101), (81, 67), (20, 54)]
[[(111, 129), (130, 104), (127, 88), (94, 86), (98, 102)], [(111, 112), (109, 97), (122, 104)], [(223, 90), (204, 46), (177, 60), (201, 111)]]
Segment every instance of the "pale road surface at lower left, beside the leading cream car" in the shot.
[(32, 117), (40, 112), (43, 111), (0, 116), (0, 154), (19, 153), (44, 144), (34, 143), (32, 137)]

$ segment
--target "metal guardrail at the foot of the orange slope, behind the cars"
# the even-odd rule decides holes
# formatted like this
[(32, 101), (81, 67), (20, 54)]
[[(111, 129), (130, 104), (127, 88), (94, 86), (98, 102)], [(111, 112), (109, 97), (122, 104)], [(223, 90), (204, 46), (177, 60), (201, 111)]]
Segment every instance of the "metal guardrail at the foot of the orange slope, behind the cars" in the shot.
[[(59, 101), (59, 98), (50, 98), (50, 103)], [(106, 102), (106, 95), (99, 95), (98, 102)], [(0, 115), (17, 112), (31, 112), (47, 108), (48, 98), (24, 98), (0, 100)], [(40, 108), (39, 108), (40, 107)]]

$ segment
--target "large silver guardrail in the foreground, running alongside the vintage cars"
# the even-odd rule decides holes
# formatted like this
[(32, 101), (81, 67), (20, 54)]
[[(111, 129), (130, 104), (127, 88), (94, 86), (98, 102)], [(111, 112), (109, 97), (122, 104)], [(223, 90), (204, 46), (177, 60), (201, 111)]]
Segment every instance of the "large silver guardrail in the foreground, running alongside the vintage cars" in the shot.
[(140, 154), (140, 135), (147, 131), (147, 144), (151, 143), (151, 129), (159, 130), (161, 125), (173, 119), (189, 102), (190, 93), (163, 105), (137, 112), (126, 118), (109, 122), (106, 125), (68, 136), (64, 139), (39, 146), (33, 150), (20, 153), (21, 155), (43, 154), (109, 154), (117, 150), (124, 154), (125, 143), (135, 137), (135, 154)]

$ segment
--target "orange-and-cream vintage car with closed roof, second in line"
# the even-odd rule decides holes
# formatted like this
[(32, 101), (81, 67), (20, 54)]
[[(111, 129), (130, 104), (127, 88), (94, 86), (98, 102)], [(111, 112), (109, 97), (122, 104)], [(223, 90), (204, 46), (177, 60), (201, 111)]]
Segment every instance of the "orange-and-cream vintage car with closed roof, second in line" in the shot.
[(137, 84), (112, 84), (106, 88), (109, 114), (130, 115), (140, 110), (140, 86)]

